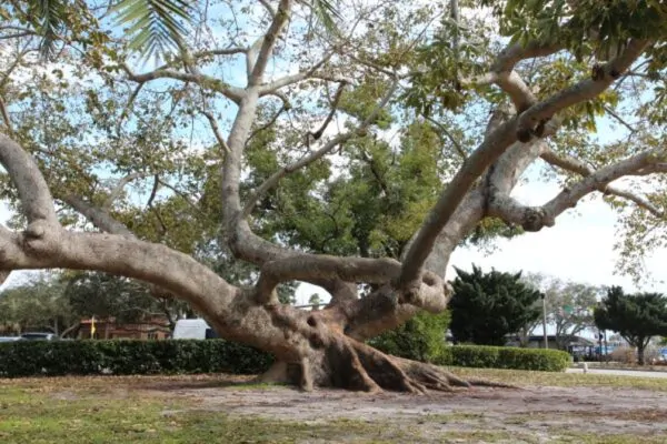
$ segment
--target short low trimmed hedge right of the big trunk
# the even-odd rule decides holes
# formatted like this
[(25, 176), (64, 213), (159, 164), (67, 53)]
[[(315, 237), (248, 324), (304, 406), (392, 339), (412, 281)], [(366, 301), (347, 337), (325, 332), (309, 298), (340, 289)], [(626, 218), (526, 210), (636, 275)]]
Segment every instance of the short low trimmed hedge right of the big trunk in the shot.
[(461, 367), (563, 372), (570, 361), (570, 355), (559, 350), (452, 345), (445, 347), (435, 363)]

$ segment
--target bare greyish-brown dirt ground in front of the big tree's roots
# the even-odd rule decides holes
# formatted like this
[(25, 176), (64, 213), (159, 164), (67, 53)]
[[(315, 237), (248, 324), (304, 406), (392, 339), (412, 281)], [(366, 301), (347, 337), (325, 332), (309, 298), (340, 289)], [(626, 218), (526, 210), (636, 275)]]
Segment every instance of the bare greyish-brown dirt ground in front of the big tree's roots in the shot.
[[(197, 410), (230, 415), (313, 425), (366, 423), (386, 427), (388, 435), (400, 432), (402, 438), (396, 442), (415, 433), (415, 441), (434, 443), (667, 443), (665, 391), (526, 386), (418, 396), (335, 390), (302, 393), (280, 386), (216, 386), (210, 382), (153, 384), (142, 390), (152, 395), (195, 397)], [(341, 436), (326, 442), (345, 441)]]

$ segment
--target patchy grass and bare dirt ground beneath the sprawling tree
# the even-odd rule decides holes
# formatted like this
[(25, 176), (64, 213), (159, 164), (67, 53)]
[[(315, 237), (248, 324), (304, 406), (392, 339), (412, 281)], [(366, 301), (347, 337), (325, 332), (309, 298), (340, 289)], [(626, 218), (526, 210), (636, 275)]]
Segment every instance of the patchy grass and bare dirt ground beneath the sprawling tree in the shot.
[[(456, 372), (530, 386), (641, 389), (654, 396), (667, 392), (666, 380), (469, 369)], [(482, 392), (492, 402), (505, 402), (508, 396), (507, 401), (515, 403), (496, 414), (490, 402), (488, 408), (484, 403), (477, 405), (476, 392), (372, 397), (340, 391), (303, 394), (286, 387), (238, 385), (237, 381), (220, 375), (0, 380), (0, 443), (667, 442), (659, 430), (654, 433), (650, 427), (639, 434), (623, 428), (613, 434), (597, 433), (597, 428), (586, 426), (593, 415), (578, 426), (568, 426), (571, 418), (560, 411), (531, 410), (526, 415), (520, 403), (525, 395), (518, 391)], [(576, 394), (575, 390), (561, 390)], [(667, 401), (667, 394), (664, 396), (656, 402)], [(292, 411), (300, 413), (291, 415)], [(342, 415), (346, 411), (351, 414)], [(667, 420), (667, 412), (665, 417), (653, 420), (655, 412), (637, 412), (616, 420), (628, 424), (664, 424)]]

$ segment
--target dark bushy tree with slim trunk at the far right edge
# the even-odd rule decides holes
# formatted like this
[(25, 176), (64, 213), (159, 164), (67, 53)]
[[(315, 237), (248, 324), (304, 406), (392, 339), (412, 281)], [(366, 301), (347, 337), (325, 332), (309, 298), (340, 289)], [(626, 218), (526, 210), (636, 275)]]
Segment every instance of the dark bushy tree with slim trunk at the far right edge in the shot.
[(637, 347), (639, 365), (645, 363), (644, 351), (650, 339), (667, 335), (667, 299), (660, 293), (625, 294), (620, 286), (613, 286), (594, 316), (600, 330), (615, 331)]

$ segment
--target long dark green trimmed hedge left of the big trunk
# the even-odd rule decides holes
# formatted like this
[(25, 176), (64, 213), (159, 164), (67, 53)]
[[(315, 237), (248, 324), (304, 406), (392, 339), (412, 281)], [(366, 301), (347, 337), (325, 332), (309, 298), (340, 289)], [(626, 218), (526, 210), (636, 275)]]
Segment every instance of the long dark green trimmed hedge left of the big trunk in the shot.
[(0, 344), (0, 377), (266, 371), (272, 357), (225, 340), (31, 341)]

